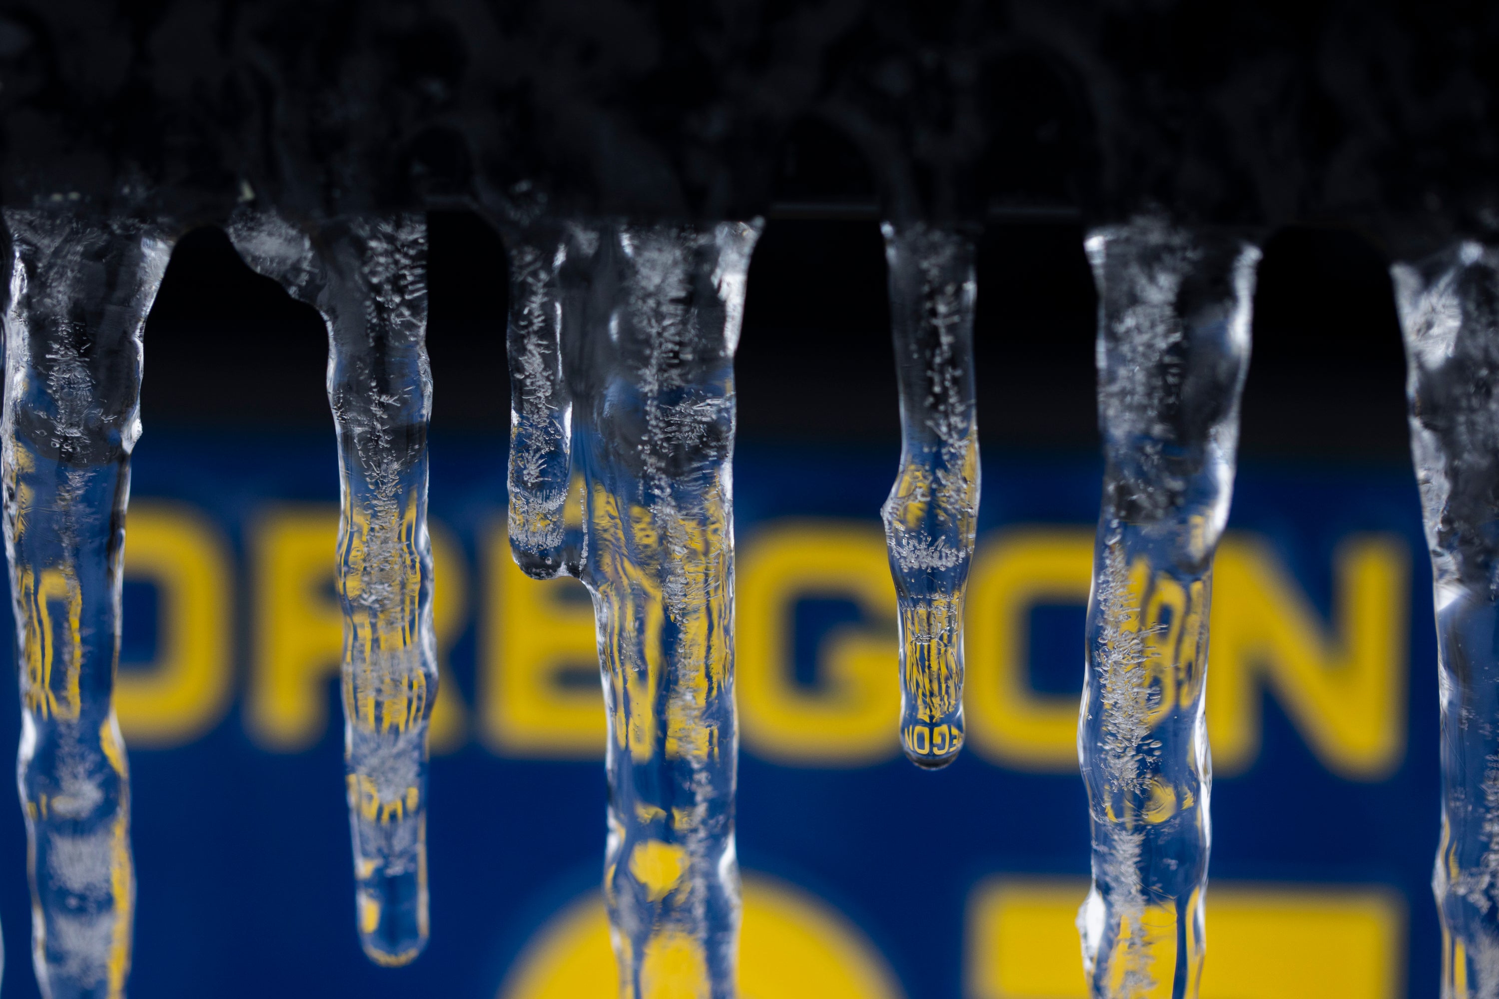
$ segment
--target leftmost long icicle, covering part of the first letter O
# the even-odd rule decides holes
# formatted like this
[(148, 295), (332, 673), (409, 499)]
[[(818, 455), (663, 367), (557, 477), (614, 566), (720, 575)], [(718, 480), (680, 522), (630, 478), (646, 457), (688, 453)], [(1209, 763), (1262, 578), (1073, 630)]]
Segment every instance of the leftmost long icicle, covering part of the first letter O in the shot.
[(33, 962), (45, 996), (124, 995), (135, 872), (114, 716), (141, 330), (171, 243), (153, 226), (4, 211), (4, 539), (21, 678)]

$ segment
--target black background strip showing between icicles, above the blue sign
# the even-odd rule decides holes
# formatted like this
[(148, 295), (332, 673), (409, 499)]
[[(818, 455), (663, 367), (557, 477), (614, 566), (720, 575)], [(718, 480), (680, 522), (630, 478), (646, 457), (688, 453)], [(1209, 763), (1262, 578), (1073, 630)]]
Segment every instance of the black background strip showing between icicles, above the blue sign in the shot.
[[(433, 428), (505, 433), (499, 237), (469, 213), (433, 213), (430, 225)], [(1346, 229), (1291, 228), (1268, 240), (1244, 392), (1247, 458), (1409, 461), (1385, 268), (1378, 249)], [(769, 220), (736, 368), (741, 439), (898, 443), (884, 282), (872, 219)], [(1078, 223), (985, 229), (976, 324), (985, 445), (1097, 452), (1094, 310)], [(147, 433), (238, 425), (331, 434), (325, 359), (316, 313), (252, 274), (222, 232), (199, 229), (177, 247), (147, 325)]]

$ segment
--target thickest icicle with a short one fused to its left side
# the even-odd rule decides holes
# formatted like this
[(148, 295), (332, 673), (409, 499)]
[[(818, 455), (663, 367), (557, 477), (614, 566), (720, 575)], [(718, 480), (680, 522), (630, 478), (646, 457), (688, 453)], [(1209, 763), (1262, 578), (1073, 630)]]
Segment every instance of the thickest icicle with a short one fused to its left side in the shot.
[[(594, 598), (609, 714), (604, 900), (630, 999), (736, 992), (733, 356), (758, 232), (571, 225), (534, 241), (535, 271), (513, 250), (514, 433), (537, 448), (519, 481), (525, 503), (546, 497), (522, 509), (546, 514), (513, 514), (511, 545), (532, 574), (573, 572)], [(568, 454), (577, 562), (528, 562), (573, 544), (553, 529)], [(526, 478), (529, 467), (544, 472)]]

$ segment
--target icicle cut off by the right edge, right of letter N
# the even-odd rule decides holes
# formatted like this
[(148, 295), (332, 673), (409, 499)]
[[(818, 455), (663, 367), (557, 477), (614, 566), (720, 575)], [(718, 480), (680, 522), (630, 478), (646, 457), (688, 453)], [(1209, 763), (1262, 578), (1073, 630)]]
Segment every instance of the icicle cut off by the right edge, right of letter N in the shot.
[(1499, 996), (1499, 252), (1391, 268), (1436, 586), (1444, 999)]

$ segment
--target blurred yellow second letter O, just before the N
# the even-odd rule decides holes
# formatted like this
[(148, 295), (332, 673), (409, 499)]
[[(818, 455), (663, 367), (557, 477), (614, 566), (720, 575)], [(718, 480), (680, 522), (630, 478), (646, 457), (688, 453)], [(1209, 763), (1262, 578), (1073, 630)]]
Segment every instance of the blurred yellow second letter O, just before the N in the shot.
[[(1012, 770), (1076, 771), (1078, 695), (1042, 695), (1028, 677), (1030, 611), (1087, 604), (1093, 530), (1031, 527), (979, 548), (968, 578), (965, 629), (968, 744)], [(1082, 677), (1078, 635), (1078, 677)]]

